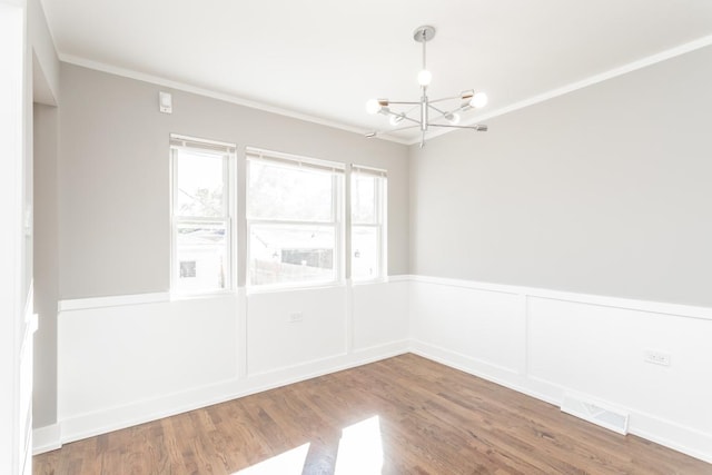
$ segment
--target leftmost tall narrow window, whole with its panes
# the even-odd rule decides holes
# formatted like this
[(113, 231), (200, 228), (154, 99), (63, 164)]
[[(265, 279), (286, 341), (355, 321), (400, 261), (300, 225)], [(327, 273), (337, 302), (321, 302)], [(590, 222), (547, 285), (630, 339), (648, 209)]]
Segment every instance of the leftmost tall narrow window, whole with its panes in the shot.
[(170, 136), (171, 290), (231, 288), (235, 146)]

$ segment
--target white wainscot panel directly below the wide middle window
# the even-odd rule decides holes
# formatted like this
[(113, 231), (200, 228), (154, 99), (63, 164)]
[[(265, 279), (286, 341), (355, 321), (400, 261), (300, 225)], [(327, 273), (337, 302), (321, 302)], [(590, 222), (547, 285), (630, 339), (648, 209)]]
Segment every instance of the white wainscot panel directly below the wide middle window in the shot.
[(345, 287), (247, 296), (248, 376), (345, 353)]

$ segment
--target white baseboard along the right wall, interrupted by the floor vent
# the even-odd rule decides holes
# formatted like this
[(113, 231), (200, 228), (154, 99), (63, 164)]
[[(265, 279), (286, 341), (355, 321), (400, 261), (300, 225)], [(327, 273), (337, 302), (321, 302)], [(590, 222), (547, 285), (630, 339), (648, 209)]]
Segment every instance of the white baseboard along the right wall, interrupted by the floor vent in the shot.
[[(543, 379), (518, 375), (514, 372), (493, 370), (493, 368), (497, 368), (495, 365), (490, 365), (478, 359), (418, 340), (411, 343), (411, 350), (424, 358), (459, 369), (555, 406), (561, 404), (564, 392), (574, 390)], [(626, 409), (630, 412), (630, 434), (690, 455), (691, 457), (712, 463), (712, 453), (710, 453), (712, 434), (702, 433), (651, 414), (634, 410), (630, 407)]]

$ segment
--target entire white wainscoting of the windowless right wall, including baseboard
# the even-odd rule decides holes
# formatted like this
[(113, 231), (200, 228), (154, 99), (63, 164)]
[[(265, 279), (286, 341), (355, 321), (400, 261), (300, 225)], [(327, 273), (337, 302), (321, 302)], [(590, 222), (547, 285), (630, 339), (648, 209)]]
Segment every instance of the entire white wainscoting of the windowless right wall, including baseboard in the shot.
[(409, 293), (413, 353), (620, 408), (632, 434), (712, 462), (712, 309), (417, 276)]

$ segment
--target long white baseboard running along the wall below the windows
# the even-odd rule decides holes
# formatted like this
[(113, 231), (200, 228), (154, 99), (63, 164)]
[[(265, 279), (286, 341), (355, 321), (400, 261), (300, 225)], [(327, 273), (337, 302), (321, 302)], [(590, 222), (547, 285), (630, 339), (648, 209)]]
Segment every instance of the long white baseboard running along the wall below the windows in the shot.
[[(329, 373), (408, 353), (408, 342), (395, 342), (374, 348), (309, 362), (269, 373), (235, 378), (215, 385), (192, 388), (160, 398), (82, 414), (60, 420), (62, 444), (144, 424), (162, 417), (224, 403), (250, 394), (274, 389)], [(57, 447), (56, 447), (57, 448)]]

